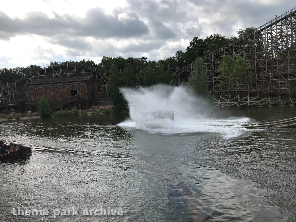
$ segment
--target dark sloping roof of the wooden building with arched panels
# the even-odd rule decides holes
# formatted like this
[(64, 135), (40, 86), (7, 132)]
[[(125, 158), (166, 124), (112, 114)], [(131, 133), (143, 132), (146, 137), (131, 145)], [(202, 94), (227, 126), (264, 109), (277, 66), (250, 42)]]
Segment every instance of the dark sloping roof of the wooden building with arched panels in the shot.
[(77, 76), (66, 76), (66, 77), (48, 77), (34, 79), (31, 82), (25, 83), (25, 85), (41, 85), (50, 83), (72, 83), (72, 82), (85, 82), (91, 79), (93, 75), (77, 75)]

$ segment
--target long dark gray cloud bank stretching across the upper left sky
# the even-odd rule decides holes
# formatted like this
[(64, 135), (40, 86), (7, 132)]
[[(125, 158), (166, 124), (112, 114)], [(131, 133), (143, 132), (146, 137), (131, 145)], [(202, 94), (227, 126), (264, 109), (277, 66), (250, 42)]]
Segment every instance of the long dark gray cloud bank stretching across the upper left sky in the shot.
[(7, 39), (18, 34), (129, 38), (149, 33), (148, 26), (135, 13), (128, 16), (131, 19), (120, 20), (118, 15), (105, 15), (98, 8), (90, 9), (84, 19), (67, 14), (55, 14), (54, 18), (49, 18), (40, 12), (31, 12), (23, 19), (12, 19), (0, 12), (0, 38)]

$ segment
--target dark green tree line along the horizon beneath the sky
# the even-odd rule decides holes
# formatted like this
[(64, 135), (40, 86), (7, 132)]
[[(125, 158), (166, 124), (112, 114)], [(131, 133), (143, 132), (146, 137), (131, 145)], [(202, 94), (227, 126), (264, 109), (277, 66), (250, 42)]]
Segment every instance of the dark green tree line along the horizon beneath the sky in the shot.
[[(239, 30), (238, 35), (239, 37), (244, 36), (245, 34), (255, 30), (255, 28), (246, 28), (244, 30)], [(189, 43), (189, 46), (186, 48), (186, 51), (183, 52), (181, 50), (176, 51), (175, 56), (171, 56), (168, 58), (164, 58), (158, 61), (150, 61), (147, 60), (147, 57), (141, 57), (141, 58), (123, 58), (123, 57), (107, 57), (103, 56), (100, 63), (96, 64), (94, 61), (91, 60), (81, 60), (77, 61), (84, 65), (89, 65), (91, 67), (95, 67), (98, 69), (103, 70), (110, 70), (112, 64), (114, 63), (118, 69), (124, 69), (126, 67), (126, 64), (132, 64), (133, 66), (138, 65), (152, 65), (157, 66), (158, 64), (169, 64), (169, 65), (177, 65), (177, 66), (186, 66), (190, 63), (194, 62), (194, 60), (197, 57), (203, 57), (207, 53), (214, 51), (216, 49), (219, 49), (221, 46), (224, 46), (232, 41), (237, 41), (238, 37), (232, 37), (228, 38), (225, 36), (222, 36), (220, 34), (214, 34), (207, 36), (206, 38), (198, 38), (194, 37), (193, 40)], [(68, 61), (68, 62), (74, 62), (74, 61)], [(57, 64), (57, 62), (51, 62), (52, 65)], [(37, 68), (41, 68), (38, 65), (29, 65), (27, 67), (14, 67), (12, 69), (20, 71), (25, 74), (29, 74), (30, 71), (36, 71)], [(6, 69), (6, 68), (4, 68)], [(19, 76), (15, 73), (2, 73), (0, 74), (0, 81), (2, 83), (9, 82), (13, 80), (14, 78), (19, 78)], [(0, 85), (1, 85), (0, 82)]]

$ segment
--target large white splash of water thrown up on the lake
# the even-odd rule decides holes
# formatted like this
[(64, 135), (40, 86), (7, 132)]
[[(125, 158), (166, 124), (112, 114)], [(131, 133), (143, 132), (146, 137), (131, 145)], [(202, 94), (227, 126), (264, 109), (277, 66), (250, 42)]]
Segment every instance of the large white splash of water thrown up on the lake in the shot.
[[(152, 133), (220, 133), (224, 138), (240, 136), (240, 127), (249, 118), (213, 118), (209, 104), (189, 94), (184, 87), (157, 85), (149, 88), (121, 89), (130, 108), (130, 120), (121, 127), (138, 128)], [(172, 109), (174, 120), (147, 118), (147, 112)]]

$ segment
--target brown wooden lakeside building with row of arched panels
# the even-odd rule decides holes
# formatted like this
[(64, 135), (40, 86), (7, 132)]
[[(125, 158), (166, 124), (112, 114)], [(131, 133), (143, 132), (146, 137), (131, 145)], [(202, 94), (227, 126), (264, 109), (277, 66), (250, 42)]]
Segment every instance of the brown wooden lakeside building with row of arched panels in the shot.
[(67, 107), (89, 109), (99, 97), (98, 83), (93, 75), (39, 78), (25, 83), (29, 104), (27, 110), (36, 111), (39, 98), (44, 96), (52, 111)]

